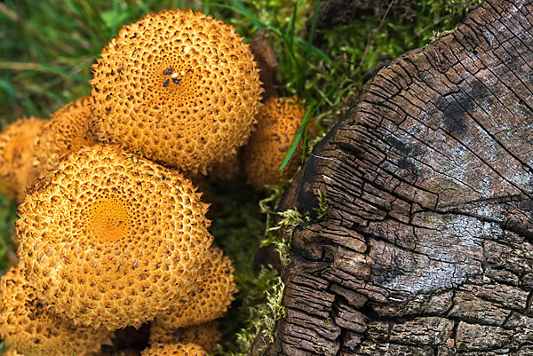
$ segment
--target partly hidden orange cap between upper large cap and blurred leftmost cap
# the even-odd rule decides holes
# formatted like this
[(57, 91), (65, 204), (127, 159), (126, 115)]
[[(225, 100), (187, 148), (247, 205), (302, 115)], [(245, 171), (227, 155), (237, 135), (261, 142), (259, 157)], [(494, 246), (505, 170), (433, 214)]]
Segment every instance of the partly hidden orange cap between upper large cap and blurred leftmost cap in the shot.
[(44, 124), (36, 139), (34, 165), (39, 170), (39, 177), (54, 168), (61, 157), (95, 143), (91, 133), (91, 105), (90, 96), (76, 99), (52, 113)]

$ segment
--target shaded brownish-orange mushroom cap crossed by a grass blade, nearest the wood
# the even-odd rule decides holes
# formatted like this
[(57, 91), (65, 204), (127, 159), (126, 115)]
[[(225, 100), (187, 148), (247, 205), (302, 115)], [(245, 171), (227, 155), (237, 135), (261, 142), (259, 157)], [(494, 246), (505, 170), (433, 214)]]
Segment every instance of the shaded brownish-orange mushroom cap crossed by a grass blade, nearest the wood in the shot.
[(306, 115), (306, 107), (298, 98), (268, 99), (258, 115), (258, 127), (244, 148), (243, 166), (248, 182), (258, 190), (265, 185), (277, 185), (290, 178), (298, 168), (301, 141), (282, 174), (277, 171), (285, 160), (292, 138)]

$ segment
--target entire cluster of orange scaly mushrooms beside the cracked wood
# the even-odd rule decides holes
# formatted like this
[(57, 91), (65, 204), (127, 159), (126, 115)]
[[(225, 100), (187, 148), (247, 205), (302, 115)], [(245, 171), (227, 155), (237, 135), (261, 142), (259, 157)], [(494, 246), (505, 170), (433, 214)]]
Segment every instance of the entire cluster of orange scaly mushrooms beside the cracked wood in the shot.
[(0, 189), (21, 202), (20, 261), (0, 287), (7, 353), (103, 354), (115, 330), (151, 322), (142, 355), (207, 354), (236, 287), (189, 178), (243, 162), (251, 185), (279, 182), (305, 108), (262, 104), (235, 29), (179, 10), (124, 26), (91, 85), (0, 134)]

